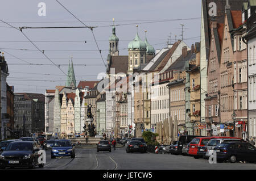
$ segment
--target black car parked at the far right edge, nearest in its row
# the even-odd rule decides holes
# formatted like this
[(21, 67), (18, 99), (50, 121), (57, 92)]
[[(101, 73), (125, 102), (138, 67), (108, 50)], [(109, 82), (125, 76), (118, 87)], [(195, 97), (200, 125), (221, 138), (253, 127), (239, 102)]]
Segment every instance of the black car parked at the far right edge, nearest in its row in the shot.
[(217, 161), (248, 161), (256, 162), (256, 148), (249, 142), (223, 142), (214, 147)]

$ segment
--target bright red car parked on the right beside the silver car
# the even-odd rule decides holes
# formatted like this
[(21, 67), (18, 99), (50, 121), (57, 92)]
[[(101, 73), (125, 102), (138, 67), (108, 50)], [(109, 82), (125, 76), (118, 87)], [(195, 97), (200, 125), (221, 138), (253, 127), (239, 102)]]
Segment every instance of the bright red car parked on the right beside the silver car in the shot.
[(193, 155), (194, 158), (199, 158), (197, 155), (198, 147), (207, 145), (210, 137), (196, 137), (190, 142), (188, 154)]

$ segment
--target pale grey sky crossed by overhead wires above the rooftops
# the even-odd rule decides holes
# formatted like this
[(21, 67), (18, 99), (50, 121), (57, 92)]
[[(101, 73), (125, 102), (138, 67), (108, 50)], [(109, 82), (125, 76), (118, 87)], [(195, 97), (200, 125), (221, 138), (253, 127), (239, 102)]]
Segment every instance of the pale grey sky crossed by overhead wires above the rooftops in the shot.
[[(84, 26), (57, 1), (86, 26), (97, 26), (93, 33), (101, 54), (89, 28), (27, 28), (22, 30), (24, 34), (14, 28)], [(97, 75), (106, 72), (113, 18), (119, 55), (128, 54), (127, 45), (136, 35), (137, 24), (139, 37), (144, 40), (147, 30), (147, 40), (155, 50), (167, 47), (168, 39), (174, 43), (175, 35), (181, 39), (180, 24), (184, 24), (183, 39), (188, 47), (200, 41), (200, 0), (57, 1), (1, 2), (0, 20), (9, 25), (0, 22), (0, 51), (9, 68), (7, 83), (14, 86), (14, 92), (44, 94), (46, 89), (65, 85), (71, 57), (77, 85), (79, 81), (98, 81)], [(40, 2), (46, 5), (46, 16), (38, 14)]]

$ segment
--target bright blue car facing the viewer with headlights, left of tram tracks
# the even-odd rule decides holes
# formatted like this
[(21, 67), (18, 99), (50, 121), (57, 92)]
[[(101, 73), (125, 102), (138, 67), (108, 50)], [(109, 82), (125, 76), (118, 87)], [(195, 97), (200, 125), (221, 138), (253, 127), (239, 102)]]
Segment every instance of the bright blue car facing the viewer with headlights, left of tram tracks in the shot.
[(52, 145), (51, 158), (71, 157), (75, 158), (75, 144), (71, 140), (55, 140)]

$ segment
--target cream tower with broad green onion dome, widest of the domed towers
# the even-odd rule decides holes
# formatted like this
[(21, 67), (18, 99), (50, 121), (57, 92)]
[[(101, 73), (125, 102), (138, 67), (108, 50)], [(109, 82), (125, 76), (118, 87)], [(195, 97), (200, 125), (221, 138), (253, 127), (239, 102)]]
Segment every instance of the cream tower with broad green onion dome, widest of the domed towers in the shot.
[(128, 56), (129, 56), (129, 66), (128, 73), (133, 73), (134, 69), (138, 69), (141, 64), (146, 64), (146, 50), (147, 45), (138, 35), (138, 25), (137, 25), (137, 34), (134, 37), (133, 41), (130, 41), (128, 44)]

